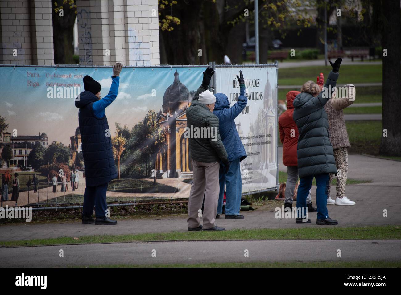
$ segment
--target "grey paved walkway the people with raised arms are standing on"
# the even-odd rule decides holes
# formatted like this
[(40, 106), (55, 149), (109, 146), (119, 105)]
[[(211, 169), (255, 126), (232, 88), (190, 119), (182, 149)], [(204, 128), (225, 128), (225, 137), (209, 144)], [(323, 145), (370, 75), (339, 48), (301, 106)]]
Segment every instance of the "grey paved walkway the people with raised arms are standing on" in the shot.
[[(280, 171), (286, 171), (282, 164), (282, 147), (279, 147)], [(347, 186), (346, 196), (356, 202), (355, 206), (328, 205), (330, 217), (339, 220), (338, 226), (368, 226), (401, 224), (399, 173), (401, 162), (349, 155), (348, 177), (358, 180), (373, 180), (373, 183)], [(332, 187), (334, 195), (335, 187)], [(312, 188), (312, 200), (316, 204), (316, 187)], [(277, 202), (281, 206), (282, 202)], [(383, 210), (388, 217), (383, 217)], [(312, 224), (295, 224), (293, 219), (275, 218), (274, 208), (259, 208), (241, 213), (243, 220), (217, 219), (216, 224), (227, 230), (234, 228), (299, 228), (300, 226), (322, 227), (315, 224), (316, 216), (310, 214)], [(118, 220), (116, 226), (81, 225), (75, 222), (49, 222), (0, 225), (0, 240), (26, 240), (33, 238), (56, 238), (59, 236), (85, 236), (95, 234), (137, 234), (145, 232), (185, 232), (186, 214), (134, 217)], [(329, 226), (330, 227), (330, 226)]]

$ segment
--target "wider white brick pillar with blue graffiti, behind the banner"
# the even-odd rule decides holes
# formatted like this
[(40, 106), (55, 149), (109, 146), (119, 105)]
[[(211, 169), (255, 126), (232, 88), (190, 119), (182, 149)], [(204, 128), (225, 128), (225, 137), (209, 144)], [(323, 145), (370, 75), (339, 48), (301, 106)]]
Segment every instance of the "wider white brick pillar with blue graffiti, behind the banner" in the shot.
[(157, 0), (77, 1), (83, 65), (159, 65)]

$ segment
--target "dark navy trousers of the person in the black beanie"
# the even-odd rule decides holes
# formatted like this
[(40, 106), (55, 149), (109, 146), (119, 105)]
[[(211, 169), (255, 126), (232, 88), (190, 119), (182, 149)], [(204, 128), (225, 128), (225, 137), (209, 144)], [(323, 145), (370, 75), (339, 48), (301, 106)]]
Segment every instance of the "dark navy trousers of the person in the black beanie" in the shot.
[(92, 216), (93, 207), (96, 205), (96, 217), (105, 217), (107, 210), (106, 192), (109, 183), (100, 186), (87, 186), (83, 194), (83, 210), (85, 216)]

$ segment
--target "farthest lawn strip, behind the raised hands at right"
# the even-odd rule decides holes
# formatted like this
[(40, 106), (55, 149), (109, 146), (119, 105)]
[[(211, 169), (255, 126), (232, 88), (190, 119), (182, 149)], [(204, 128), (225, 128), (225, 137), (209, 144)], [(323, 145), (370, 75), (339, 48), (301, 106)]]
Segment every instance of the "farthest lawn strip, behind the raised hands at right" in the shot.
[[(294, 67), (279, 69), (279, 85), (302, 85), (308, 80), (316, 81), (316, 77), (322, 72), (327, 78), (331, 67)], [(372, 83), (382, 81), (382, 65), (342, 65), (338, 76), (338, 85), (348, 83)]]

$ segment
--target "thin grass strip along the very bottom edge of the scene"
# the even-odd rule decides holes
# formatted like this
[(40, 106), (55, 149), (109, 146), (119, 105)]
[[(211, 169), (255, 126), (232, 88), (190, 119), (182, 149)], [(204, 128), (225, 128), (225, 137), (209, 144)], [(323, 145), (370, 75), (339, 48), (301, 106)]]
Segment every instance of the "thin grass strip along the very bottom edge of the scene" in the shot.
[(93, 265), (89, 267), (401, 267), (400, 261), (245, 262), (156, 265)]

